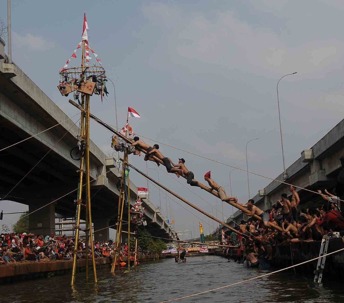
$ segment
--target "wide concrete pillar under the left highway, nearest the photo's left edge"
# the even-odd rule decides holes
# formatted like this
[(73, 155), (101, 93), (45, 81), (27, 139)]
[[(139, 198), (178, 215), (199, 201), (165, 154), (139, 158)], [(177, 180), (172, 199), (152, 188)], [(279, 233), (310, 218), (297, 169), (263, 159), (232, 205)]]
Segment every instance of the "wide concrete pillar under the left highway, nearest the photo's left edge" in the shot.
[[(49, 201), (49, 200), (48, 200)], [(34, 200), (29, 202), (29, 212), (33, 212), (47, 203)], [(33, 234), (51, 235), (55, 234), (55, 205), (54, 203), (37, 210), (29, 215), (29, 231)]]

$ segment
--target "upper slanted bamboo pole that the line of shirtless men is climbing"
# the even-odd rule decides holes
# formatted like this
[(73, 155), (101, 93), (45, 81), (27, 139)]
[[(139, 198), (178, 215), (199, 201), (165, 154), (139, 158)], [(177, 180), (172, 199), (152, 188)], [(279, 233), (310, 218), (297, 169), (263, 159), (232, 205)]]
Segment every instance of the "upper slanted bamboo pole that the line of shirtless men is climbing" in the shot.
[[(75, 106), (76, 108), (78, 108), (79, 110), (83, 110), (82, 107), (79, 106), (77, 103), (75, 103), (73, 100), (70, 100), (70, 99), (69, 99), (69, 103), (71, 103), (72, 105), (74, 105), (74, 106)], [(115, 130), (113, 127), (109, 126), (107, 123), (101, 121), (101, 120), (100, 120), (98, 117), (96, 117), (95, 115), (93, 115), (93, 114), (90, 113), (90, 117), (91, 117), (93, 120), (95, 120), (97, 123), (99, 123), (100, 125), (103, 125), (103, 126), (104, 126), (105, 128), (107, 128), (109, 131), (111, 131), (112, 133), (114, 133), (116, 136), (118, 136), (118, 137), (122, 138), (123, 140), (125, 140), (127, 143), (129, 143), (129, 144), (132, 143), (128, 138), (126, 138), (125, 136), (123, 136), (122, 134), (120, 134), (119, 132), (117, 132), (117, 130)], [(141, 151), (141, 153), (144, 153), (144, 154), (147, 153), (146, 150), (142, 150), (142, 149), (139, 149), (139, 148), (137, 148), (137, 149), (138, 149), (139, 151)], [(159, 158), (153, 156), (153, 159), (154, 159), (155, 161), (158, 161), (160, 164), (163, 165), (162, 160), (160, 160)], [(194, 181), (197, 181), (197, 180), (194, 180)], [(220, 197), (219, 197), (219, 194), (218, 194), (216, 191), (214, 191), (214, 190), (212, 190), (211, 188), (205, 186), (205, 185), (202, 184), (201, 182), (197, 181), (197, 186), (200, 187), (201, 189), (203, 189), (203, 190), (205, 190), (205, 191), (211, 193), (211, 194), (214, 195), (215, 197), (220, 198)], [(250, 212), (247, 208), (241, 206), (240, 204), (235, 203), (235, 202), (233, 202), (233, 201), (226, 201), (226, 202), (227, 202), (228, 204), (230, 204), (230, 205), (236, 207), (238, 210), (244, 212), (246, 215), (251, 216), (251, 212)], [(253, 217), (256, 218), (256, 219), (258, 219), (258, 220), (261, 220), (261, 217), (258, 216), (258, 215), (256, 215), (256, 214), (253, 215)], [(220, 223), (223, 224), (223, 222), (220, 222)], [(274, 229), (277, 229), (278, 231), (282, 232), (282, 228), (281, 228), (281, 227), (279, 227), (279, 226), (277, 226), (277, 225), (273, 225), (273, 224), (271, 224), (270, 222), (269, 222), (268, 224), (269, 224), (269, 227), (274, 228)], [(228, 225), (225, 225), (225, 226), (227, 227)]]

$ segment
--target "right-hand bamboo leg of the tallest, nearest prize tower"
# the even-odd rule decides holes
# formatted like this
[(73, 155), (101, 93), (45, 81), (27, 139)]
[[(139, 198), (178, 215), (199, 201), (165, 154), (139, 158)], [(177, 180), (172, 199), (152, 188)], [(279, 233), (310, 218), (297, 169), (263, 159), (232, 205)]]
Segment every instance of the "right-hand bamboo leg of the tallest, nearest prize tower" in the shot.
[[(85, 97), (85, 108), (86, 108), (86, 119), (85, 119), (85, 128), (86, 128), (86, 198), (87, 198), (87, 214), (88, 214), (88, 226), (89, 228), (89, 239), (92, 252), (92, 264), (93, 264), (93, 273), (94, 273), (94, 282), (97, 283), (97, 268), (96, 260), (94, 255), (94, 246), (93, 246), (93, 231), (92, 231), (92, 214), (91, 214), (91, 187), (90, 187), (90, 176), (89, 176), (89, 99), (90, 96), (86, 95)], [(88, 247), (86, 247), (88, 250)]]

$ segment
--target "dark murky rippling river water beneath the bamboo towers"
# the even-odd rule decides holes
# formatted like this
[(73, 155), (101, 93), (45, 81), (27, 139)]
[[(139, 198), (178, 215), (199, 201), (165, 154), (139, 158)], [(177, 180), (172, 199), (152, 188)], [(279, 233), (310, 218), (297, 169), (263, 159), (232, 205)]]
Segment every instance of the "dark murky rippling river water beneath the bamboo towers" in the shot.
[[(73, 289), (69, 285), (70, 276), (65, 275), (1, 285), (0, 293), (3, 302), (11, 303), (161, 302), (267, 272), (228, 263), (217, 256), (190, 257), (187, 263), (164, 259), (142, 263), (130, 273), (116, 272), (115, 276), (108, 268), (99, 269), (98, 285), (86, 285), (84, 273), (79, 273)], [(175, 302), (344, 302), (344, 288), (342, 283), (333, 282), (319, 286), (312, 277), (289, 271)]]

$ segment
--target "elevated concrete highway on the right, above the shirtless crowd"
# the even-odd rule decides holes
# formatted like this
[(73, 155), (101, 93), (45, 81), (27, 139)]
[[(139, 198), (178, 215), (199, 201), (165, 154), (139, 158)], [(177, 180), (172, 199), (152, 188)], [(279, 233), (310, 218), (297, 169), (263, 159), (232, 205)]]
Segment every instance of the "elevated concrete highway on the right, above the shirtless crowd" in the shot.
[[(325, 188), (331, 192), (337, 184), (337, 175), (342, 169), (340, 157), (344, 156), (344, 119), (312, 147), (300, 150), (300, 152), (301, 157), (287, 168), (289, 179), (283, 180), (283, 172), (275, 179), (315, 192)], [(315, 203), (325, 203), (319, 194), (299, 188), (296, 190), (301, 200), (299, 208), (306, 203), (309, 207)], [(272, 181), (264, 189), (259, 190), (252, 199), (261, 210), (268, 210), (276, 204), (277, 199), (281, 199), (282, 193), (287, 193), (290, 199), (289, 185)], [(237, 223), (241, 220), (247, 221), (248, 218), (241, 211), (237, 211), (232, 217)], [(227, 223), (234, 226), (230, 219), (227, 220)]]

